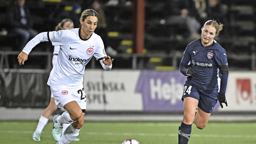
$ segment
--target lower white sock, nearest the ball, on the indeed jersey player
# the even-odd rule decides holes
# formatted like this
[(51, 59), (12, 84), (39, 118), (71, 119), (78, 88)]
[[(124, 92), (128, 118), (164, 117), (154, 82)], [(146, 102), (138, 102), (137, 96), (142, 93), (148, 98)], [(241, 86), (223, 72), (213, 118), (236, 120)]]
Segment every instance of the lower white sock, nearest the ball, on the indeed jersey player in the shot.
[(58, 144), (69, 144), (79, 135), (80, 130), (81, 129), (77, 130), (73, 128), (72, 125), (70, 124), (65, 130), (64, 135), (61, 136), (61, 139), (60, 141), (58, 141)]

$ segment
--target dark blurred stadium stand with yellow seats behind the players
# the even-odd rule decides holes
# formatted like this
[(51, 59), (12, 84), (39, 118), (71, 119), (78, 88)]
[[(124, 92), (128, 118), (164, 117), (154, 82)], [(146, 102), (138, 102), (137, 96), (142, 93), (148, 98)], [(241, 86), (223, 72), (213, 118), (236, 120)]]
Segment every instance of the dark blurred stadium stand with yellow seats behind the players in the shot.
[[(6, 21), (6, 9), (13, 0), (0, 3), (0, 49), (6, 51), (15, 50), (15, 45), (19, 39), (17, 36), (8, 32), (8, 22)], [(60, 19), (65, 17), (72, 10), (72, 4), (81, 0), (26, 0), (32, 16), (34, 17), (34, 28), (38, 32), (53, 30)], [(116, 60), (123, 60), (130, 63), (124, 67), (118, 63), (119, 69), (155, 69), (156, 66), (174, 66), (173, 63), (180, 61), (177, 58), (173, 61), (172, 55), (182, 54), (186, 45), (191, 41), (182, 37), (186, 26), (169, 23), (168, 8), (166, 0), (145, 0), (145, 54), (144, 57), (134, 56), (132, 53), (132, 29), (133, 29), (133, 3), (126, 0), (126, 3), (109, 4), (106, 0), (99, 0), (103, 4), (106, 14), (107, 25), (109, 27), (108, 36), (111, 40), (111, 47), (117, 50), (121, 55), (116, 55)], [(254, 57), (256, 30), (255, 30), (255, 1), (247, 0), (221, 0), (225, 9), (227, 23), (224, 23), (224, 30), (219, 37), (216, 37), (221, 46), (223, 46), (230, 55), (230, 68), (255, 70), (255, 66), (250, 63)], [(227, 30), (226, 30), (227, 29)], [(6, 31), (5, 31), (6, 30)], [(226, 32), (227, 31), (227, 32)], [(7, 34), (5, 34), (7, 32)], [(39, 44), (35, 51), (52, 52), (50, 45)], [(47, 47), (47, 48), (46, 48)], [(241, 53), (242, 49), (242, 53)], [(158, 53), (161, 63), (152, 62), (149, 55)], [(124, 54), (124, 55), (122, 55)], [(131, 60), (136, 57), (137, 66), (132, 66)], [(239, 58), (239, 59), (238, 59)], [(171, 60), (171, 61), (170, 61)], [(248, 61), (250, 63), (248, 63)], [(142, 63), (142, 64), (140, 64)], [(241, 66), (241, 64), (243, 66)], [(155, 65), (155, 66), (152, 66)], [(143, 66), (143, 67), (141, 67)], [(150, 66), (150, 67), (147, 67)], [(44, 67), (44, 66), (42, 66)], [(92, 66), (96, 67), (97, 66)], [(177, 64), (175, 65), (177, 67)]]

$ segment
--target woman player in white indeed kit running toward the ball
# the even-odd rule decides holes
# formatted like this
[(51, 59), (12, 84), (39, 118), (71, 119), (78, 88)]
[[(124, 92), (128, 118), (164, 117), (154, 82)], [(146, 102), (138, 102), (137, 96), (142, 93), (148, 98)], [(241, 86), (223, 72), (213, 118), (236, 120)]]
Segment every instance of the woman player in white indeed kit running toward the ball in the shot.
[[(18, 55), (18, 62), (23, 65), (32, 48), (42, 41), (50, 41), (53, 46), (61, 47), (47, 82), (55, 104), (67, 110), (53, 119), (52, 135), (55, 140), (59, 140), (57, 144), (73, 141), (84, 124), (86, 95), (83, 75), (87, 63), (94, 56), (103, 69), (109, 71), (112, 68), (113, 59), (106, 54), (101, 37), (94, 33), (97, 23), (98, 13), (87, 9), (80, 17), (81, 28), (42, 32), (30, 40)], [(62, 125), (67, 123), (72, 125), (61, 136)]]

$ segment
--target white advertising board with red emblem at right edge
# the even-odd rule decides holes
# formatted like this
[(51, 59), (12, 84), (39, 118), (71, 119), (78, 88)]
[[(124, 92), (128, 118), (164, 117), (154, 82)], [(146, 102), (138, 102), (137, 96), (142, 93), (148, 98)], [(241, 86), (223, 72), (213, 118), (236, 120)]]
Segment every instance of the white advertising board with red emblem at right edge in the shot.
[(256, 72), (229, 72), (226, 99), (221, 111), (256, 111)]

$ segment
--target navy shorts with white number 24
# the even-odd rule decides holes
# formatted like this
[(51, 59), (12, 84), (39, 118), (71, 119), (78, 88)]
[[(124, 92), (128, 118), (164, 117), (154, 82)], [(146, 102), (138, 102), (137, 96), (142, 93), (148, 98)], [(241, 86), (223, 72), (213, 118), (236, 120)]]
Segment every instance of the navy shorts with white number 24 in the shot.
[(184, 84), (184, 91), (181, 100), (183, 101), (183, 99), (186, 97), (197, 99), (198, 107), (207, 113), (212, 113), (212, 110), (217, 103), (216, 94), (200, 92), (195, 89), (195, 87), (188, 84)]

